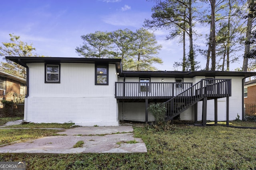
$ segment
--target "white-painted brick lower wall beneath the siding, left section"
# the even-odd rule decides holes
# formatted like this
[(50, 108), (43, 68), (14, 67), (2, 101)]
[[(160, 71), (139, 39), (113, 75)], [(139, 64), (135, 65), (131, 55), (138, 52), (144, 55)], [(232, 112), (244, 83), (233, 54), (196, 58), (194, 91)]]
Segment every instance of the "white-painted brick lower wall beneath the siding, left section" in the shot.
[(26, 121), (77, 125), (117, 126), (115, 98), (32, 97), (27, 100)]

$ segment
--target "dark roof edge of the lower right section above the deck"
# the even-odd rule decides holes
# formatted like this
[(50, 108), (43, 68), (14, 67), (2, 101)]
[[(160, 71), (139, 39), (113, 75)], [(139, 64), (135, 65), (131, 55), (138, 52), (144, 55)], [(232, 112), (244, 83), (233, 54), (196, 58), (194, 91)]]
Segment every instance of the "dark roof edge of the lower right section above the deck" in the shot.
[(241, 76), (250, 77), (256, 75), (256, 72), (236, 72), (236, 71), (123, 71), (120, 76), (125, 77), (174, 77), (174, 78), (192, 78), (195, 76)]

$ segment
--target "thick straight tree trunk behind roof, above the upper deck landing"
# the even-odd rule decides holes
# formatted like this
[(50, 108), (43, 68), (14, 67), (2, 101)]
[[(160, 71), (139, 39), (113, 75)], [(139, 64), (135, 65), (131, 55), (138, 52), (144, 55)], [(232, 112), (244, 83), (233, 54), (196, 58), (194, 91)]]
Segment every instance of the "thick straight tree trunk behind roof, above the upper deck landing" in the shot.
[(215, 0), (209, 0), (211, 4), (211, 29), (212, 29), (212, 68), (211, 70), (215, 70), (216, 68), (216, 33), (215, 33)]

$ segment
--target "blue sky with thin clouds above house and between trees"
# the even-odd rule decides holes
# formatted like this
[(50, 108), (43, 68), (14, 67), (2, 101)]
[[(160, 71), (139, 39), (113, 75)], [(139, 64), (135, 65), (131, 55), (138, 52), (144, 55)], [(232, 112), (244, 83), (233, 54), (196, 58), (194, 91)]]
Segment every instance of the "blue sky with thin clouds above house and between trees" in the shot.
[[(82, 45), (81, 35), (125, 28), (135, 31), (143, 27), (145, 19), (150, 19), (153, 5), (146, 0), (3, 0), (0, 42), (8, 42), (9, 33), (14, 33), (21, 41), (32, 43), (38, 55), (80, 57), (75, 48)], [(198, 32), (208, 33), (208, 27), (198, 27)], [(163, 46), (158, 57), (164, 61), (155, 66), (159, 70), (174, 70), (174, 62), (182, 58), (182, 44), (177, 39), (166, 41), (166, 30), (154, 33)], [(205, 46), (202, 41), (204, 36), (200, 43)], [(196, 60), (201, 68), (205, 67), (202, 56)], [(240, 66), (241, 61), (231, 64), (231, 69)]]

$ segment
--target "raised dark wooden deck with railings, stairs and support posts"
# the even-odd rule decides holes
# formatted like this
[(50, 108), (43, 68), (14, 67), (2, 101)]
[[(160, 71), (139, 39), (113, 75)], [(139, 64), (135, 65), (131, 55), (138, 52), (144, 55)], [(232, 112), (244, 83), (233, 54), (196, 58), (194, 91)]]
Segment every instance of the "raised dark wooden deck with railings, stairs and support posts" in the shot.
[[(228, 117), (231, 79), (202, 79), (194, 85), (191, 82), (116, 82), (115, 88), (115, 98), (122, 102), (146, 103), (146, 122), (148, 121), (148, 104), (153, 101), (166, 104), (166, 120), (173, 120), (188, 107), (203, 101), (202, 122), (206, 125), (207, 100), (214, 99), (214, 105), (217, 108), (217, 99), (227, 98)], [(195, 109), (195, 120), (197, 120), (197, 114)], [(217, 115), (217, 112), (215, 114)]]

